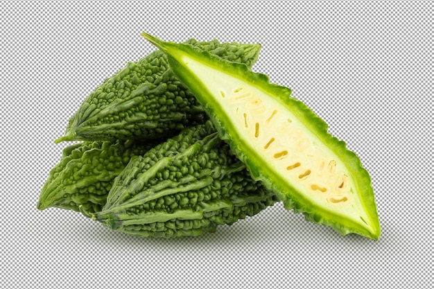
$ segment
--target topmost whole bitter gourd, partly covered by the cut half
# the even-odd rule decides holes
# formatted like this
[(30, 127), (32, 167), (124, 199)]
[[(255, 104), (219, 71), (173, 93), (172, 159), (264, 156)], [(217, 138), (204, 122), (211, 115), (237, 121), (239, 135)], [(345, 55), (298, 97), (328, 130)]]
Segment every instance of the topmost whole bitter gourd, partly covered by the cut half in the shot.
[[(252, 67), (259, 44), (186, 41), (225, 60)], [(173, 75), (162, 51), (129, 62), (107, 78), (69, 119), (61, 141), (114, 141), (172, 137), (189, 125), (204, 123), (207, 115), (191, 91)]]

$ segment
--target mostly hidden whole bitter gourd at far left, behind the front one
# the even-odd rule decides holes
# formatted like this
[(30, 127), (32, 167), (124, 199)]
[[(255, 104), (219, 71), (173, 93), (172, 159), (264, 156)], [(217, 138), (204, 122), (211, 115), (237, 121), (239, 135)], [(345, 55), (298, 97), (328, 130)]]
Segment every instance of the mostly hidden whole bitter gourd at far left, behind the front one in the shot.
[(134, 155), (143, 155), (155, 145), (138, 141), (92, 141), (64, 148), (62, 159), (46, 179), (37, 209), (49, 207), (101, 211), (114, 178)]

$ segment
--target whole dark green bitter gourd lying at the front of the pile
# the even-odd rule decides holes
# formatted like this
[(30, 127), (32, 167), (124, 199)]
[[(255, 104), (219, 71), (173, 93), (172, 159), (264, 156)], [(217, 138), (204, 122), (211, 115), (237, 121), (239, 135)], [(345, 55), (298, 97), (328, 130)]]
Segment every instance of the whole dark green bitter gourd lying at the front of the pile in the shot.
[(214, 232), (275, 202), (207, 121), (133, 157), (103, 209), (83, 214), (126, 234), (175, 238)]

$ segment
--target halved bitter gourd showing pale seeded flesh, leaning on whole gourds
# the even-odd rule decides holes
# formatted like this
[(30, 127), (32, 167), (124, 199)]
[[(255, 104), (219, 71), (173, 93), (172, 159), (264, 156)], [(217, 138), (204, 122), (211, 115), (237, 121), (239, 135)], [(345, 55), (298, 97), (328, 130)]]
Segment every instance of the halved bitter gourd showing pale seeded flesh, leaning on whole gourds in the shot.
[(268, 76), (243, 64), (142, 36), (166, 53), (173, 73), (205, 107), (220, 137), (286, 209), (340, 234), (379, 238), (370, 175), (290, 89), (270, 84)]

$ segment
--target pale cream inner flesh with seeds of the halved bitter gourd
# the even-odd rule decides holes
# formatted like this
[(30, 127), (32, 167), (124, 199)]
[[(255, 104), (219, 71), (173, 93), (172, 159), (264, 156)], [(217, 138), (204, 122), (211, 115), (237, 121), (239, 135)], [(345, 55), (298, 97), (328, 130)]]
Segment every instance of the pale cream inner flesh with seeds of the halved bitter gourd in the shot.
[(186, 59), (216, 98), (243, 143), (302, 198), (332, 213), (368, 225), (360, 196), (345, 163), (281, 100), (235, 76)]

